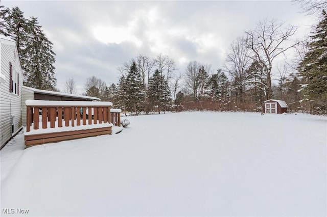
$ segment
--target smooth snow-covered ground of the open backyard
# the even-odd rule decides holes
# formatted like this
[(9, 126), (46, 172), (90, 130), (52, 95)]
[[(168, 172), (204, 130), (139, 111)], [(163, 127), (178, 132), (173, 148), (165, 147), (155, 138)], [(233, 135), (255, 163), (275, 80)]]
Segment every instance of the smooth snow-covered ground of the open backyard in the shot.
[(1, 215), (327, 215), (326, 117), (183, 112), (127, 119), (119, 134), (26, 150), (17, 135), (0, 152)]

